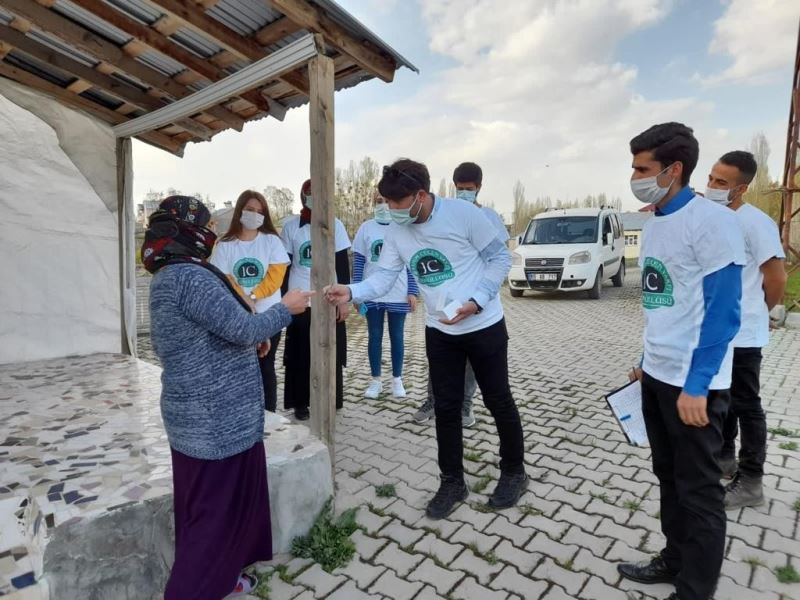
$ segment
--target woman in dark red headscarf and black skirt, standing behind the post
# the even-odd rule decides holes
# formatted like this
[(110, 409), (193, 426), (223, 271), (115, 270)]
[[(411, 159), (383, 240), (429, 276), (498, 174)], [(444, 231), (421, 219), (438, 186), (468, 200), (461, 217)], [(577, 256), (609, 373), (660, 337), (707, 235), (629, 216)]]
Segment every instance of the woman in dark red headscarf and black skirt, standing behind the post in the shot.
[[(311, 210), (313, 196), (311, 180), (306, 180), (300, 189), (300, 200), (303, 209), (300, 215), (289, 218), (283, 225), (281, 239), (289, 253), (289, 271), (286, 274), (284, 287), (311, 289)], [(350, 260), (347, 250), (350, 238), (344, 224), (335, 220), (334, 248), (336, 252), (336, 280), (338, 283), (350, 283)], [(345, 319), (349, 312), (348, 305), (336, 307), (336, 408), (342, 407), (344, 398), (344, 382), (342, 367), (347, 364), (347, 329)], [(311, 371), (311, 309), (296, 315), (292, 324), (286, 328), (286, 347), (283, 354), (285, 367), (283, 406), (286, 410), (294, 409), (294, 416), (300, 421), (309, 417)]]

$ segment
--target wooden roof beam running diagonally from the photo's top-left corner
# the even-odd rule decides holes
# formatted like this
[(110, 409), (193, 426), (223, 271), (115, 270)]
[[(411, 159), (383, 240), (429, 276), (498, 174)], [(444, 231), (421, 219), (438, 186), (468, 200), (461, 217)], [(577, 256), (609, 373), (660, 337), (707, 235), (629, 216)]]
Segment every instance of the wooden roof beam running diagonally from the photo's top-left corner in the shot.
[[(98, 60), (114, 65), (117, 70), (153, 86), (158, 91), (163, 90), (175, 98), (185, 98), (192, 94), (191, 90), (173, 79), (127, 56), (121, 48), (106, 39), (55, 11), (40, 6), (33, 0), (2, 0), (2, 2), (5, 8), (17, 16), (32, 21), (39, 29), (55, 35)], [(223, 107), (215, 106), (209, 108), (208, 112), (239, 131), (244, 126), (244, 119)]]

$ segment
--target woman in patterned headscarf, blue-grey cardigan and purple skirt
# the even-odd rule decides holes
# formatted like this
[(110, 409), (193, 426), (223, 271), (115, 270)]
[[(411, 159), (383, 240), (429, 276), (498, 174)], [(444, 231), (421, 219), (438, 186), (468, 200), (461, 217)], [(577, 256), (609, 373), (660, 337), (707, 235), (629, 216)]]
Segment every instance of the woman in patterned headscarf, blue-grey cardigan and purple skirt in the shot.
[(303, 312), (288, 292), (260, 314), (207, 262), (216, 235), (202, 202), (170, 196), (150, 217), (150, 335), (161, 360), (161, 414), (172, 450), (175, 563), (165, 600), (247, 593), (249, 564), (272, 558), (264, 409), (256, 344)]

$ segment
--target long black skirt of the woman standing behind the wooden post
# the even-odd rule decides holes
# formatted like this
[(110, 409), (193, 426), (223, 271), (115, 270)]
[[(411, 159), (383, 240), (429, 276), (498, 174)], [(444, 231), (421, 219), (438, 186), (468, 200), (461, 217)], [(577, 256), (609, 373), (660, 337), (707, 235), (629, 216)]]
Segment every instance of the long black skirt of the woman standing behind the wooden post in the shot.
[[(342, 367), (347, 362), (347, 329), (344, 323), (336, 324), (336, 408), (344, 400), (344, 377)], [(308, 408), (311, 395), (311, 309), (292, 317), (286, 328), (286, 344), (283, 352), (285, 380), (283, 384), (283, 406)]]

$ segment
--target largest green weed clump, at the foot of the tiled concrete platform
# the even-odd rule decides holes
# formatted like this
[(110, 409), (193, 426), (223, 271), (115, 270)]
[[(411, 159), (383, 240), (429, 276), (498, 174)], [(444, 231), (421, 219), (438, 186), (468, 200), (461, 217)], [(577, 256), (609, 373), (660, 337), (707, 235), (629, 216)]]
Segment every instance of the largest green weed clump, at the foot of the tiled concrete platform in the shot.
[(295, 538), (292, 542), (292, 554), (318, 562), (328, 573), (345, 566), (356, 552), (356, 546), (350, 539), (350, 535), (358, 528), (356, 510), (346, 510), (334, 519), (333, 501), (328, 499), (308, 535)]

